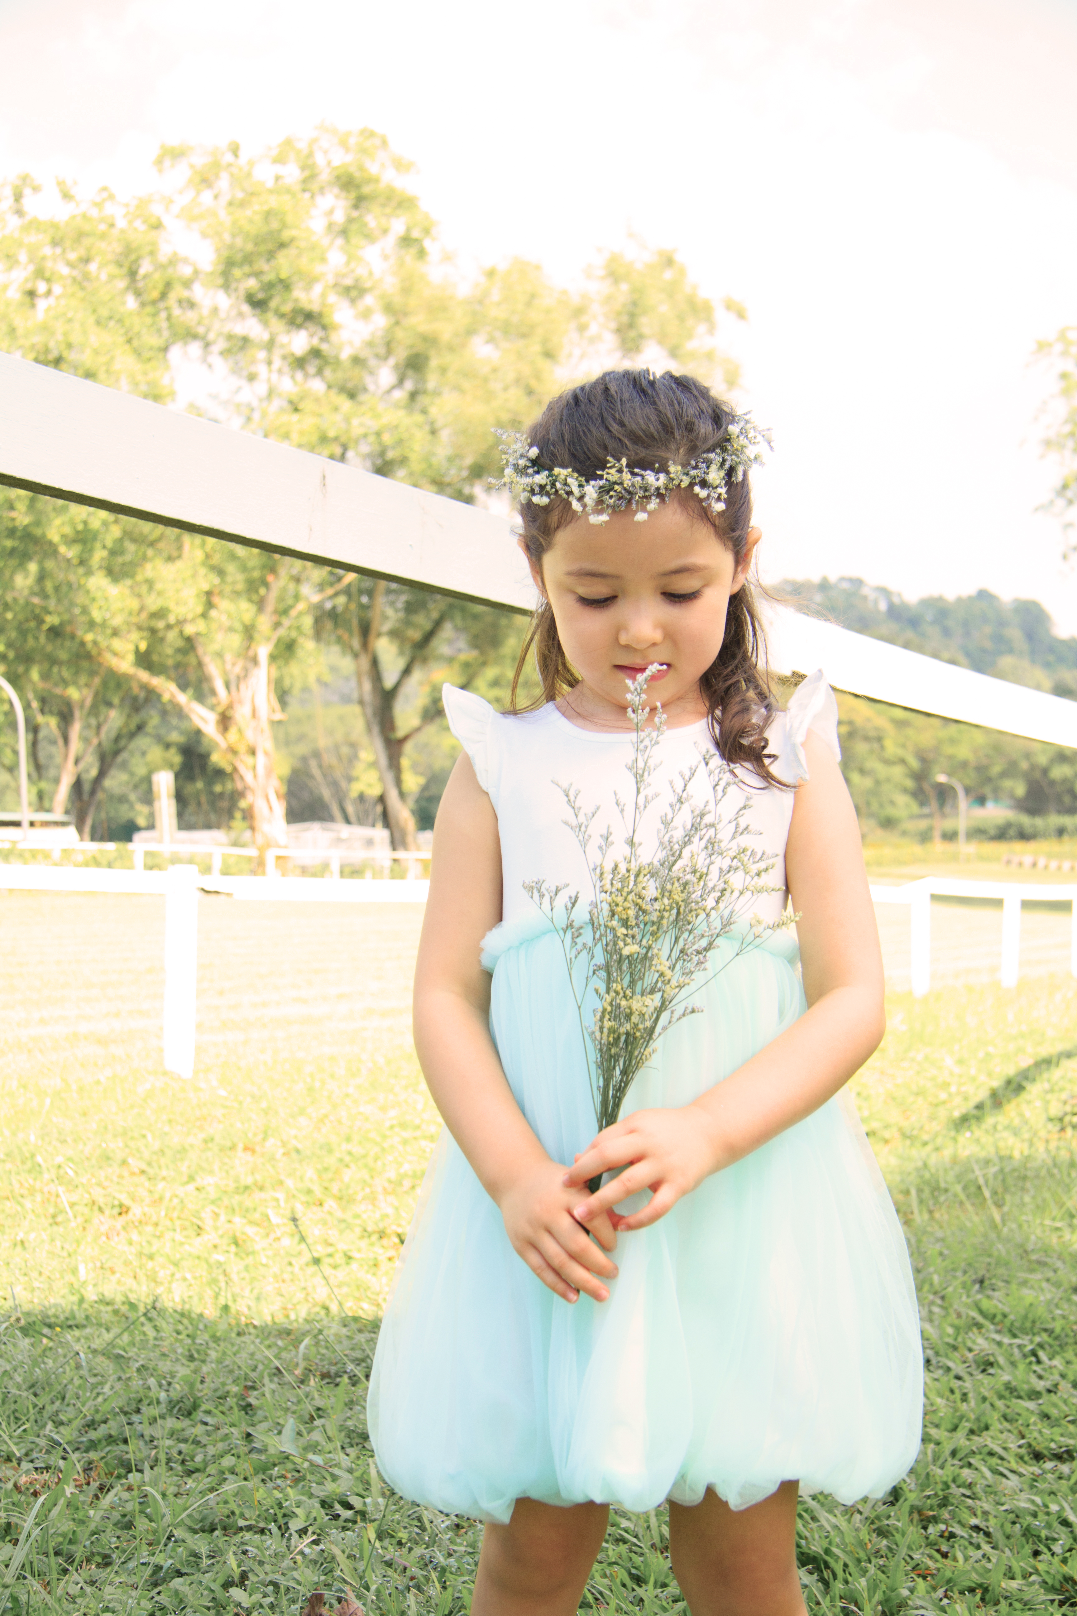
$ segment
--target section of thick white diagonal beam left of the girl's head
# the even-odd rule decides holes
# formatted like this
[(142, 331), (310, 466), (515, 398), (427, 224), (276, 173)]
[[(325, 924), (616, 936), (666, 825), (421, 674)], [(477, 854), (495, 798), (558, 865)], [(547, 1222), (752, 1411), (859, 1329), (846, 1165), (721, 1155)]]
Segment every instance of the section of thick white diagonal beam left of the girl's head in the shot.
[(534, 603), (501, 516), (11, 354), (0, 483), (510, 611)]

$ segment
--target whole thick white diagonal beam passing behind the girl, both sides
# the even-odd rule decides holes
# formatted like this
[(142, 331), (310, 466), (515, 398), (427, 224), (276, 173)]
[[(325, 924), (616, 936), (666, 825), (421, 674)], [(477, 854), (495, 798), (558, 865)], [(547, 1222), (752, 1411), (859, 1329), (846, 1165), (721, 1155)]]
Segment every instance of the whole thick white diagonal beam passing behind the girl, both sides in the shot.
[[(0, 483), (528, 612), (505, 517), (0, 354)], [(919, 656), (788, 606), (770, 664), (840, 690), (1077, 747), (1077, 701)]]

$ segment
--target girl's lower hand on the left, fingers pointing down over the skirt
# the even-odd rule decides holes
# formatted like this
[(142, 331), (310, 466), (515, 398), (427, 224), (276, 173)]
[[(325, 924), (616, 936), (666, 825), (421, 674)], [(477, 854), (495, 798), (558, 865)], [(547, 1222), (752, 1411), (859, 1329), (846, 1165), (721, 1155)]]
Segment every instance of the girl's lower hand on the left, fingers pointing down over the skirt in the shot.
[[(578, 1301), (580, 1291), (604, 1302), (609, 1301), (609, 1290), (599, 1275), (617, 1278), (617, 1264), (606, 1256), (615, 1248), (617, 1235), (606, 1212), (596, 1214), (588, 1228), (581, 1228), (572, 1215), (578, 1199), (580, 1193), (565, 1186), (565, 1168), (546, 1160), (515, 1180), (497, 1204), (513, 1251), (543, 1285), (567, 1302)], [(594, 1244), (591, 1235), (606, 1251)]]

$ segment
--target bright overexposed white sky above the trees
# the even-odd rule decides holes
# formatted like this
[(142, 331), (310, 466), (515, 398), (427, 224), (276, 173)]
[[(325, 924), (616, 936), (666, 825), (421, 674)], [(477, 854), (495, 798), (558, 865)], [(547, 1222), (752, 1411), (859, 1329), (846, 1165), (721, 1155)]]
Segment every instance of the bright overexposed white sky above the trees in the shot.
[(463, 263), (677, 247), (748, 305), (764, 577), (1077, 633), (1030, 362), (1077, 323), (1077, 0), (0, 0), (0, 175), (368, 124)]

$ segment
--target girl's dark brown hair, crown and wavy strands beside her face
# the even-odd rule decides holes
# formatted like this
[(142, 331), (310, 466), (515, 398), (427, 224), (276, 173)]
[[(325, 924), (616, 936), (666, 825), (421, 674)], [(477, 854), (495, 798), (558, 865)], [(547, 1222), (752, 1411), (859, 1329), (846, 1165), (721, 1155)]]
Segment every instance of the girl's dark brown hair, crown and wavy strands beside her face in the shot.
[[(538, 448), (536, 467), (564, 467), (591, 478), (606, 470), (607, 461), (627, 461), (630, 469), (667, 470), (670, 464), (686, 465), (699, 454), (720, 448), (735, 417), (694, 377), (675, 377), (672, 370), (657, 377), (652, 370), (607, 370), (594, 381), (585, 381), (552, 399), (528, 433)], [(748, 473), (731, 482), (725, 494), (725, 511), (712, 516), (693, 490), (675, 493), (696, 519), (709, 522), (719, 540), (744, 556), (751, 528), (752, 499)], [(559, 530), (576, 520), (567, 499), (547, 506), (520, 507), (523, 545), (530, 559), (541, 567), (543, 556)], [(543, 693), (520, 706), (517, 692), (528, 656), (534, 651)], [(707, 726), (715, 747), (727, 763), (752, 769), (770, 785), (783, 785), (769, 768), (767, 724), (775, 711), (765, 674), (765, 642), (751, 587), (743, 583), (730, 595), (722, 650), (699, 680), (707, 703)], [(764, 663), (764, 667), (761, 667)], [(557, 701), (580, 682), (557, 635), (554, 612), (543, 601), (531, 619), (512, 680), (510, 711), (526, 713), (547, 701)]]

